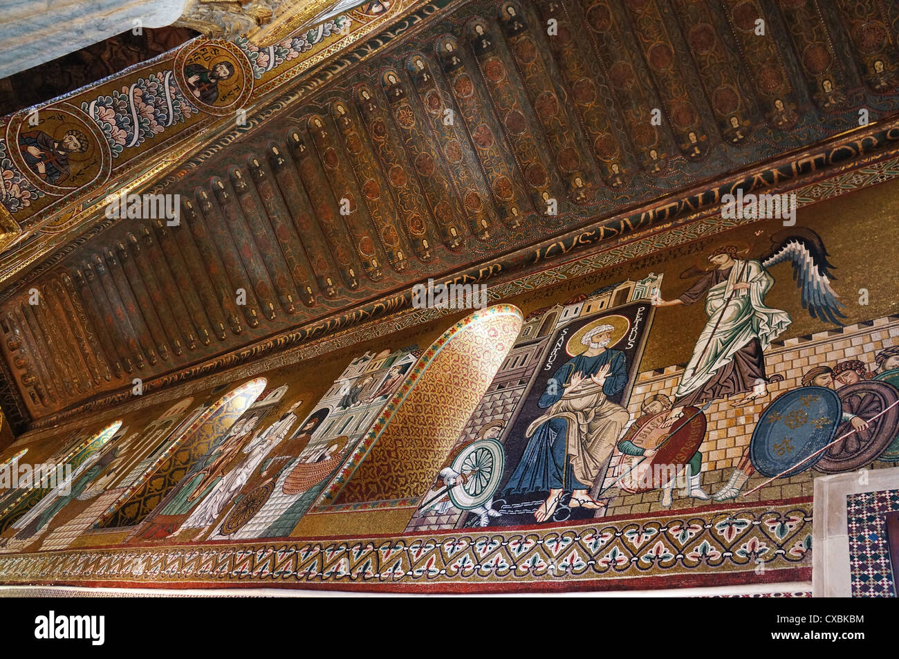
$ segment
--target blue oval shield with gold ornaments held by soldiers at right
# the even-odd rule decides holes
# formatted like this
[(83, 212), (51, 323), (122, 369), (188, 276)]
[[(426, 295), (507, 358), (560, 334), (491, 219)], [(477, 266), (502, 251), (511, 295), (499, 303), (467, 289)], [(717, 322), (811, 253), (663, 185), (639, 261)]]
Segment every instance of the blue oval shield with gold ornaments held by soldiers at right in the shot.
[[(793, 476), (814, 466), (840, 425), (840, 396), (827, 387), (799, 387), (773, 401), (752, 431), (749, 459), (762, 476)], [(802, 464), (799, 464), (802, 463)]]

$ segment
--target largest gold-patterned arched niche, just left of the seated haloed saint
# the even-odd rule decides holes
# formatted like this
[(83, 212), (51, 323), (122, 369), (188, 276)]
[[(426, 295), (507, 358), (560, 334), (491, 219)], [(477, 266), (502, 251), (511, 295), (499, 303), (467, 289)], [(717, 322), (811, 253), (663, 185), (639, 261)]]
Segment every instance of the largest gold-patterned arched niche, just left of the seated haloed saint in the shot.
[(427, 492), (522, 324), (517, 307), (496, 305), (444, 332), (409, 370), (321, 504), (388, 504)]

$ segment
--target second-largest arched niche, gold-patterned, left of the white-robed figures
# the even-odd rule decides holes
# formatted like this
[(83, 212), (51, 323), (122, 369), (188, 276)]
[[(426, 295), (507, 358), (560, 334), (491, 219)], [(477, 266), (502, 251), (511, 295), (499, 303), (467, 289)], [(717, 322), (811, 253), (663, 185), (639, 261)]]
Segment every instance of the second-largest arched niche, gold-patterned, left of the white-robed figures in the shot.
[(250, 380), (210, 405), (156, 459), (156, 463), (149, 468), (152, 476), (141, 478), (136, 485), (129, 487), (102, 514), (94, 527), (120, 529), (133, 527), (144, 521), (165, 499), (165, 495), (178, 485), (194, 461), (200, 459), (212, 442), (224, 436), (246, 408), (253, 405), (263, 393), (265, 384), (265, 378)]

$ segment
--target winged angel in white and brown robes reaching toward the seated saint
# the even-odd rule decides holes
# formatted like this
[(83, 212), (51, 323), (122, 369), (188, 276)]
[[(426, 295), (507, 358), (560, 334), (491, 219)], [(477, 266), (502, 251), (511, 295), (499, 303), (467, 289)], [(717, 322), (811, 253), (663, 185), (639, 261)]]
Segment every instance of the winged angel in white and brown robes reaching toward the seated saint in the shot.
[(698, 277), (680, 298), (664, 300), (656, 294), (654, 307), (690, 305), (705, 299), (708, 321), (693, 348), (675, 393), (674, 405), (701, 405), (726, 396), (748, 394), (734, 406), (767, 396), (767, 385), (782, 379), (768, 377), (765, 355), (771, 342), (790, 325), (789, 314), (765, 305), (774, 278), (768, 269), (788, 261), (802, 292), (802, 306), (821, 320), (841, 325), (842, 303), (831, 288), (833, 266), (827, 261), (821, 236), (792, 227), (771, 236), (769, 249), (757, 259), (747, 258), (752, 247), (722, 245), (708, 255), (708, 269), (690, 268), (682, 279)]

